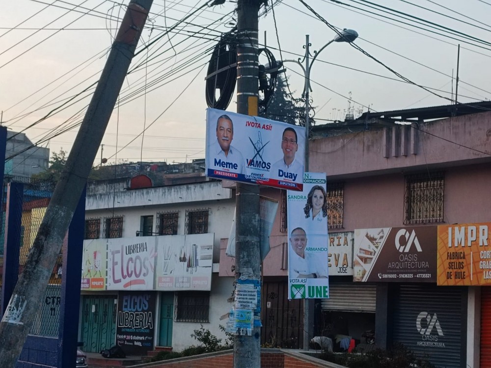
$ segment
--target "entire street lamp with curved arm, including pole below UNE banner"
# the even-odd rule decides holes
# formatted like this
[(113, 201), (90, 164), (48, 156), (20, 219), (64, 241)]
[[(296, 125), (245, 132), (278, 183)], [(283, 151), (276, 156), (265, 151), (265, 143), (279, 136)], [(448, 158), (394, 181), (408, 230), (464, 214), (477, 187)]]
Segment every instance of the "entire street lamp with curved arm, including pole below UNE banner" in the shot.
[[(326, 45), (321, 47), (319, 51), (314, 51), (314, 57), (312, 58), (312, 61), (310, 62), (310, 52), (309, 52), (309, 35), (305, 35), (305, 55), (304, 55), (304, 60), (305, 60), (305, 67), (303, 67), (302, 63), (300, 62), (300, 58), (298, 60), (283, 60), (283, 62), (288, 62), (292, 61), (294, 63), (297, 63), (300, 65), (300, 67), (303, 70), (303, 75), (305, 77), (305, 84), (303, 86), (303, 93), (302, 93), (302, 98), (305, 97), (305, 171), (308, 172), (308, 137), (309, 137), (309, 92), (312, 91), (312, 88), (310, 87), (310, 70), (312, 69), (312, 65), (319, 56), (319, 53), (323, 51), (327, 46), (329, 46), (333, 42), (353, 42), (355, 41), (356, 37), (358, 37), (358, 32), (356, 32), (353, 29), (343, 29), (339, 34), (336, 35), (332, 40), (327, 42)], [(308, 350), (308, 345), (309, 345), (309, 333), (313, 332), (311, 328), (313, 327), (313, 316), (310, 315), (310, 306), (312, 306), (312, 303), (309, 303), (310, 299), (304, 299), (303, 300), (303, 349)]]

